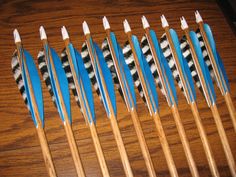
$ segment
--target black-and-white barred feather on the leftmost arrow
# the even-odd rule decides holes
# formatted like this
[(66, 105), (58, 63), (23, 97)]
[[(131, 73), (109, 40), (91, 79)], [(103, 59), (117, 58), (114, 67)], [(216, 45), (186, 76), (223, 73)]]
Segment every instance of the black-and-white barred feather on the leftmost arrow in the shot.
[(30, 111), (27, 95), (25, 93), (25, 86), (24, 86), (24, 82), (22, 79), (22, 73), (21, 73), (21, 69), (20, 69), (19, 58), (17, 56), (17, 51), (15, 51), (12, 55), (11, 67), (12, 67), (14, 79), (15, 79), (18, 89), (20, 90), (20, 93), (23, 97), (24, 103), (26, 104), (28, 110)]

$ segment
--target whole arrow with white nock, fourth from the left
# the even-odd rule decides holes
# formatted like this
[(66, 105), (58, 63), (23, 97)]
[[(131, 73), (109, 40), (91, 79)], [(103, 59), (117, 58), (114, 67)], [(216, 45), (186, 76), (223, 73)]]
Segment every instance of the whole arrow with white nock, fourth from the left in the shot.
[[(91, 61), (93, 74), (95, 75), (96, 81), (92, 80), (94, 87), (98, 88), (103, 105), (105, 107), (107, 117), (111, 121), (111, 126), (113, 134), (118, 146), (118, 150), (121, 156), (121, 161), (125, 170), (126, 176), (132, 177), (133, 173), (130, 167), (128, 156), (125, 150), (125, 146), (120, 134), (120, 130), (116, 121), (116, 99), (115, 91), (112, 83), (112, 76), (106, 62), (103, 58), (102, 51), (99, 49), (98, 45), (93, 42), (90, 35), (89, 27), (87, 23), (83, 22), (83, 31), (86, 39), (86, 45), (83, 47), (82, 53), (87, 53), (87, 55), (82, 54), (84, 60)], [(86, 66), (85, 66), (86, 67)], [(90, 71), (88, 71), (90, 72)], [(91, 74), (91, 73), (90, 73)]]

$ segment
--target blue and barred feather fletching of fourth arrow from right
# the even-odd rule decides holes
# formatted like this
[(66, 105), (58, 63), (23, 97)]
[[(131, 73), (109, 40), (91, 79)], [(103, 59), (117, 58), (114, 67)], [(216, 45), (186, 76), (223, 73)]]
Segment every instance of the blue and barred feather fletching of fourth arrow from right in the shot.
[[(144, 55), (146, 56), (146, 60), (149, 64), (149, 67), (151, 68), (151, 71), (152, 71), (153, 77), (155, 78), (156, 84), (159, 86), (162, 93), (167, 97), (167, 101), (169, 100), (168, 101), (169, 105), (173, 105), (174, 102), (177, 104), (178, 100), (177, 100), (177, 93), (176, 93), (176, 89), (175, 89), (175, 85), (174, 85), (174, 79), (173, 79), (171, 70), (169, 68), (169, 65), (168, 65), (168, 63), (162, 53), (160, 45), (158, 43), (157, 36), (153, 30), (150, 30), (150, 37), (151, 37), (155, 52), (157, 54), (157, 59), (159, 60), (158, 62), (160, 64), (161, 71), (158, 71), (158, 69), (157, 69), (157, 66), (156, 66), (155, 61), (153, 59), (150, 45), (149, 45), (149, 42), (148, 42), (146, 36), (144, 36), (141, 41), (142, 51), (143, 51)], [(158, 72), (161, 72), (162, 75), (164, 76), (164, 78), (163, 78), (164, 83), (161, 82)], [(165, 84), (165, 86), (166, 86), (167, 93), (165, 93), (163, 84)], [(170, 96), (170, 92), (172, 92), (172, 94), (174, 96), (174, 100), (172, 100), (172, 98)]]

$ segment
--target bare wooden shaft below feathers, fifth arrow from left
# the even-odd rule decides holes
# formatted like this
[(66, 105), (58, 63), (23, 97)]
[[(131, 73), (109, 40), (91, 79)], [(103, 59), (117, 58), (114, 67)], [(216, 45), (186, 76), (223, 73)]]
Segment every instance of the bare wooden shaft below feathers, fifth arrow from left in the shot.
[(131, 112), (131, 118), (134, 124), (134, 128), (138, 137), (138, 141), (142, 150), (142, 154), (143, 154), (143, 158), (145, 161), (145, 164), (147, 166), (147, 170), (148, 170), (148, 174), (150, 177), (156, 177), (156, 172), (155, 172), (155, 168), (154, 165), (152, 163), (152, 159), (151, 159), (151, 155), (148, 151), (148, 147), (147, 147), (147, 143), (145, 141), (145, 137), (142, 131), (142, 127), (140, 124), (140, 121), (138, 119), (138, 115), (136, 110), (132, 110)]

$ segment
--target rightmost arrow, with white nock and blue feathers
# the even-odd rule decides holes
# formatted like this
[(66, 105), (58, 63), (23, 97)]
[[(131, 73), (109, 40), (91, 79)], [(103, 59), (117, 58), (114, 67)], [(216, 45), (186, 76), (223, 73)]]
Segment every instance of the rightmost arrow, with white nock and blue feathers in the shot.
[(208, 24), (204, 23), (202, 17), (198, 11), (195, 12), (196, 22), (199, 26), (203, 41), (206, 45), (207, 53), (209, 55), (215, 78), (217, 81), (217, 86), (220, 88), (222, 95), (224, 96), (226, 105), (228, 107), (231, 120), (233, 122), (233, 127), (236, 132), (236, 110), (230, 96), (229, 82), (226, 75), (226, 71), (221, 60), (221, 57), (216, 49), (215, 40), (211, 32), (211, 28)]

